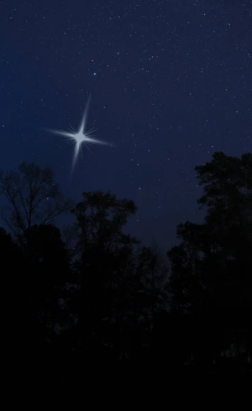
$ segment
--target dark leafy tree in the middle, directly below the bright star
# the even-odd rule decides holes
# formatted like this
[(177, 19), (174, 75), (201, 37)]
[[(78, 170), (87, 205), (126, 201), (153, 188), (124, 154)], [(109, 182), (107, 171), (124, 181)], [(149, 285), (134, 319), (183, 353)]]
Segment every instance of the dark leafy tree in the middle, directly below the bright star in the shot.
[[(83, 201), (73, 210), (79, 227), (78, 327), (82, 344), (96, 347), (96, 351), (106, 334), (106, 340), (111, 338), (109, 329), (117, 328), (122, 337), (125, 317), (130, 315), (135, 284), (133, 251), (139, 241), (124, 232), (124, 225), (136, 210), (133, 201), (99, 191), (84, 192)], [(121, 337), (115, 343), (114, 334), (115, 345), (122, 342)]]

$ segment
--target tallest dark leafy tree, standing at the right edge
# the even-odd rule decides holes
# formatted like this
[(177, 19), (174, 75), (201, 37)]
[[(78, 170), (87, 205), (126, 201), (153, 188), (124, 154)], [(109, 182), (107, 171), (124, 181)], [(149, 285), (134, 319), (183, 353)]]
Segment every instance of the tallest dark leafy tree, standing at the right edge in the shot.
[(208, 208), (205, 222), (180, 224), (182, 242), (168, 256), (173, 306), (193, 316), (196, 356), (209, 345), (227, 349), (241, 327), (251, 333), (252, 155), (214, 153), (195, 170), (204, 185), (198, 203)]

